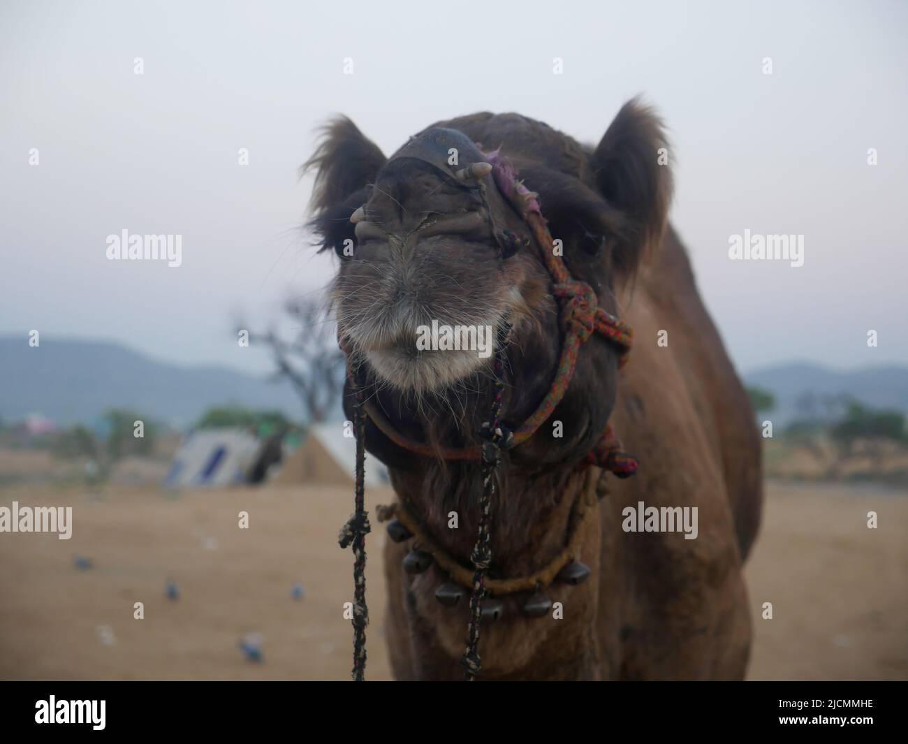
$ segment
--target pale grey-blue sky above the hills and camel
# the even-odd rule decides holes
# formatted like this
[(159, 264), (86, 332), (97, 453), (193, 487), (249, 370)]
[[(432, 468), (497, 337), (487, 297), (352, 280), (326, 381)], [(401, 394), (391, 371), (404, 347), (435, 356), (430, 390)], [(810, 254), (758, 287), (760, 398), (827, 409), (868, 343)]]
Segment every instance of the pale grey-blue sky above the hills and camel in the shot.
[[(7, 1), (0, 334), (266, 371), (234, 329), (291, 330), (331, 278), (297, 168), (332, 114), (385, 154), (483, 110), (595, 143), (642, 94), (739, 370), (908, 363), (906, 33), (888, 2)], [(181, 235), (181, 265), (108, 260), (123, 229)], [(745, 230), (803, 235), (804, 265), (730, 260)]]

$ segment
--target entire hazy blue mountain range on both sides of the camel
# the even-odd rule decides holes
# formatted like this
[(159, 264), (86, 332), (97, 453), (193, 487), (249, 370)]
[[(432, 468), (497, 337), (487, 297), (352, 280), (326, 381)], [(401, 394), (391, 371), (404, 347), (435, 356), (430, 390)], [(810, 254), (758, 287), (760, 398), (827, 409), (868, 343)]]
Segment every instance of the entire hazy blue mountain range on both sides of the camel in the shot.
[[(908, 367), (851, 372), (793, 362), (745, 373), (745, 383), (775, 395), (774, 421), (785, 422), (814, 402), (850, 395), (874, 408), (908, 412)], [(0, 419), (41, 413), (57, 424), (90, 422), (109, 408), (129, 408), (159, 422), (185, 426), (215, 405), (236, 403), (301, 418), (287, 381), (272, 382), (224, 366), (159, 362), (115, 342), (0, 336)]]

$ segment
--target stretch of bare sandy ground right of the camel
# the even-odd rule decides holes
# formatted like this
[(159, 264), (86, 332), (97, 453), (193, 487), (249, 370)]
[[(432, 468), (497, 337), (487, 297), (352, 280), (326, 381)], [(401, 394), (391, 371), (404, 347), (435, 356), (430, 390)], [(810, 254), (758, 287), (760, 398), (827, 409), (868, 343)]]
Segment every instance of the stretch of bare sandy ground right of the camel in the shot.
[(766, 495), (745, 568), (749, 679), (908, 680), (908, 493), (770, 482)]

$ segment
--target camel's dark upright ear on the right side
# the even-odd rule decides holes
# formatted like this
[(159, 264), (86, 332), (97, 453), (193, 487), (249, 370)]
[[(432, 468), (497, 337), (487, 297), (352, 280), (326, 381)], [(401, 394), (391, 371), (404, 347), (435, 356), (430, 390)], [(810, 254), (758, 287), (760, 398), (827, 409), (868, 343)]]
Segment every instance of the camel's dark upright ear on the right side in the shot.
[[(627, 242), (613, 255), (619, 273), (633, 274), (662, 242), (672, 195), (672, 174), (661, 157), (667, 146), (662, 121), (634, 98), (621, 107), (591, 156), (599, 193), (624, 217)], [(663, 147), (666, 152), (660, 153)]]

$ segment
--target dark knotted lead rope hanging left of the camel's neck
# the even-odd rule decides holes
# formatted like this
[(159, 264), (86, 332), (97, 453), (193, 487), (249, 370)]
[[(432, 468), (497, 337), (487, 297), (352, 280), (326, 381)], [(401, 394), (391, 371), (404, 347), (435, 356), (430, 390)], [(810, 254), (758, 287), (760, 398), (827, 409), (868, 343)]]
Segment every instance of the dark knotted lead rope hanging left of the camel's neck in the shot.
[(353, 680), (362, 682), (366, 673), (366, 626), (369, 625), (369, 608), (366, 606), (366, 535), (371, 527), (369, 512), (365, 510), (366, 475), (366, 413), (363, 411), (364, 394), (362, 385), (355, 375), (349, 375), (356, 402), (353, 406), (354, 427), (356, 428), (356, 488), (353, 495), (353, 513), (341, 527), (338, 543), (341, 548), (353, 546)]

